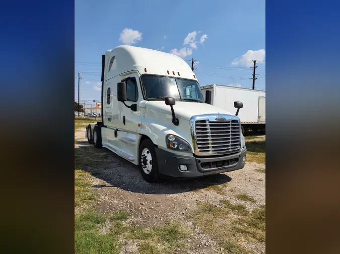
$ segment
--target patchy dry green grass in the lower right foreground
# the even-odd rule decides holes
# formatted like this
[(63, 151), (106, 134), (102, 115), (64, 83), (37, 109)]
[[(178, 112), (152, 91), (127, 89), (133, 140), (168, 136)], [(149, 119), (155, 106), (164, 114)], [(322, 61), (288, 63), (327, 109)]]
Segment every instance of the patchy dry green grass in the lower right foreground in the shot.
[[(224, 253), (250, 253), (251, 250), (238, 243), (238, 239), (265, 242), (265, 206), (250, 212), (243, 204), (232, 204), (225, 199), (220, 202), (223, 207), (200, 203), (191, 217), (197, 226), (216, 239)], [(232, 217), (230, 213), (238, 216)]]

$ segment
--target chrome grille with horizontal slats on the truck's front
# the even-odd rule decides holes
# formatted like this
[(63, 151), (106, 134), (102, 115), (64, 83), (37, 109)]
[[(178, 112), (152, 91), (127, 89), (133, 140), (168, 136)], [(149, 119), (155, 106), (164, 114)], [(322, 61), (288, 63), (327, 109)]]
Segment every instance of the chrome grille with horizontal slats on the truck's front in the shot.
[(241, 146), (241, 126), (239, 120), (195, 121), (197, 151), (200, 154), (226, 154), (239, 150)]

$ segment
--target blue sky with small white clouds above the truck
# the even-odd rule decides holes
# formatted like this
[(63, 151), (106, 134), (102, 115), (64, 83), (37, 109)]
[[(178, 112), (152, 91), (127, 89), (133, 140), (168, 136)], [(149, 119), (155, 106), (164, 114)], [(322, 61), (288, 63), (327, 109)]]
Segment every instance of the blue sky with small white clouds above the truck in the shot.
[(256, 59), (263, 63), (256, 68), (255, 89), (265, 90), (263, 0), (210, 5), (205, 1), (83, 0), (76, 1), (75, 10), (75, 71), (84, 71), (81, 102), (100, 100), (101, 55), (122, 44), (172, 52), (185, 60), (193, 57), (201, 86), (251, 88), (249, 66)]

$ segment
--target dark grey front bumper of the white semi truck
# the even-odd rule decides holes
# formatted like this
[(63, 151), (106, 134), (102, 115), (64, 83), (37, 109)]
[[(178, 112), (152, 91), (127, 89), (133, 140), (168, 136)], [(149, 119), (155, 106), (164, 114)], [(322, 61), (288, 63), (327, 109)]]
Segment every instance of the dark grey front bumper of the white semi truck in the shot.
[[(189, 155), (178, 155), (170, 151), (155, 148), (158, 160), (158, 171), (161, 175), (194, 178), (219, 174), (242, 169), (245, 164), (247, 148), (238, 153), (213, 158), (196, 158)], [(185, 165), (186, 171), (179, 170), (179, 165)]]

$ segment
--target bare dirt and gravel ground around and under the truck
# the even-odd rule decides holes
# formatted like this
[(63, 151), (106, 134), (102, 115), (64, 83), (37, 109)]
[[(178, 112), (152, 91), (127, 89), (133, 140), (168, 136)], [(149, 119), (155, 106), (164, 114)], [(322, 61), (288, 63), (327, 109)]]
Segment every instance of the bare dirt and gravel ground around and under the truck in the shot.
[[(181, 221), (191, 231), (186, 243), (189, 250), (185, 253), (222, 253), (216, 241), (197, 228), (187, 216), (197, 209), (197, 203), (209, 202), (220, 207), (220, 200), (227, 199), (235, 204), (242, 203), (249, 210), (265, 204), (264, 164), (246, 163), (241, 170), (215, 176), (169, 179), (150, 184), (143, 179), (137, 166), (107, 149), (89, 145), (85, 139), (85, 128), (75, 133), (75, 150), (76, 165), (91, 174), (89, 180), (99, 193), (95, 206), (97, 212), (105, 214), (128, 210), (132, 216), (127, 223), (147, 227), (161, 225), (171, 219)], [(256, 202), (239, 200), (235, 197), (238, 193), (246, 193)], [(121, 253), (134, 252), (134, 245), (135, 242), (127, 241)], [(265, 243), (248, 247), (253, 253), (265, 252)], [(182, 253), (180, 249), (176, 251)]]

